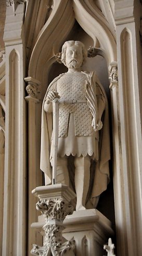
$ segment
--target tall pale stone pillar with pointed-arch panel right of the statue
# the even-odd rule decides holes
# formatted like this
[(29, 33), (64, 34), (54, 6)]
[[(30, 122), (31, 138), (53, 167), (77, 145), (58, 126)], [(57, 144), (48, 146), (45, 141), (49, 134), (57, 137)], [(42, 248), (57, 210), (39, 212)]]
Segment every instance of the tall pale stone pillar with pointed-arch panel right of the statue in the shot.
[(115, 200), (115, 214), (118, 254), (129, 256), (142, 253), (140, 17), (140, 1), (115, 1), (121, 134), (121, 203)]

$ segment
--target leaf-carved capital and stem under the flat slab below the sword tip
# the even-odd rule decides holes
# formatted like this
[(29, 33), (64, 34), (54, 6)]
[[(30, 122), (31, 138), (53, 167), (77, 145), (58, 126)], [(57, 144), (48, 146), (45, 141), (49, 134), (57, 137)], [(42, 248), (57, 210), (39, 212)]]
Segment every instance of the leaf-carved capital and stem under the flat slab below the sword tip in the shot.
[(43, 247), (33, 245), (33, 255), (50, 254), (54, 256), (64, 255), (68, 250), (74, 250), (75, 241), (72, 238), (62, 244), (62, 222), (65, 217), (73, 213), (73, 207), (63, 199), (45, 199), (36, 203), (36, 209), (45, 217), (46, 224), (43, 226), (45, 233)]

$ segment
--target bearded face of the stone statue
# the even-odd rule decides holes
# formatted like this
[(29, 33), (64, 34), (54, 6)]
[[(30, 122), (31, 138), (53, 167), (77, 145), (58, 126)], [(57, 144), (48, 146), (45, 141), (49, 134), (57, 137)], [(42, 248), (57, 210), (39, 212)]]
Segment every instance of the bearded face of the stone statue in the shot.
[(83, 62), (82, 47), (78, 45), (68, 46), (66, 50), (67, 68), (80, 68)]

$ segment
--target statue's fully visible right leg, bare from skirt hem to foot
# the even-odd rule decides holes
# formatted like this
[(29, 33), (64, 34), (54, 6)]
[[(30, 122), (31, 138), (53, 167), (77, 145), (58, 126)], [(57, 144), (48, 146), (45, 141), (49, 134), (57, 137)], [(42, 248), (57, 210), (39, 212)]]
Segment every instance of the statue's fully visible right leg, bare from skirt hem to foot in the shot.
[(75, 190), (76, 190), (76, 211), (85, 210), (85, 202), (89, 188), (91, 158), (75, 157)]

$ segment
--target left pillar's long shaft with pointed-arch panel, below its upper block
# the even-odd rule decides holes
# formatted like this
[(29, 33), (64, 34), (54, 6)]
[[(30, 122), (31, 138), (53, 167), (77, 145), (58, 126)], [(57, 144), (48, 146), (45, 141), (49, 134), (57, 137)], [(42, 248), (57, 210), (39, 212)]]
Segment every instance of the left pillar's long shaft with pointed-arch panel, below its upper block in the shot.
[[(22, 44), (7, 46), (3, 254), (25, 251), (25, 103)], [(20, 57), (21, 56), (21, 57)], [(19, 143), (20, 142), (20, 143)], [(10, 203), (9, 203), (10, 202)], [(19, 245), (17, 247), (17, 244)]]

